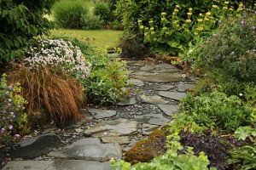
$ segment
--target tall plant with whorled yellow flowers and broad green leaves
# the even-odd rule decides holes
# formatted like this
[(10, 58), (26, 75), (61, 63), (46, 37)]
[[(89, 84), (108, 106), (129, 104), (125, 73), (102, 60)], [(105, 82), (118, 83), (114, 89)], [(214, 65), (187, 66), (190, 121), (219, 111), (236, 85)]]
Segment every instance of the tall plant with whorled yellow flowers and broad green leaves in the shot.
[(183, 6), (176, 5), (171, 14), (169, 11), (159, 14), (160, 25), (158, 20), (148, 19), (148, 23), (145, 20), (138, 20), (138, 26), (144, 34), (144, 41), (150, 43), (152, 51), (177, 55), (195, 37), (206, 36), (215, 29), (217, 21), (222, 17), (239, 14), (242, 7), (240, 4), (235, 11), (226, 3), (212, 3), (212, 8), (205, 8), (205, 12), (197, 14), (196, 8), (190, 7), (185, 11)]

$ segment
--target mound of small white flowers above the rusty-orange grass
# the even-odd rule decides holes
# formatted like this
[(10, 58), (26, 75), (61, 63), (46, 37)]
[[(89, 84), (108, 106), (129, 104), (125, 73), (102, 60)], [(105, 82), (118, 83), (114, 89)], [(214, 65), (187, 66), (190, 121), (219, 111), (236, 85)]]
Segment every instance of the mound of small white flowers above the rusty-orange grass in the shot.
[(30, 69), (38, 66), (53, 66), (67, 71), (77, 78), (87, 78), (90, 75), (90, 63), (77, 46), (61, 39), (39, 39), (35, 47), (26, 49), (26, 66)]

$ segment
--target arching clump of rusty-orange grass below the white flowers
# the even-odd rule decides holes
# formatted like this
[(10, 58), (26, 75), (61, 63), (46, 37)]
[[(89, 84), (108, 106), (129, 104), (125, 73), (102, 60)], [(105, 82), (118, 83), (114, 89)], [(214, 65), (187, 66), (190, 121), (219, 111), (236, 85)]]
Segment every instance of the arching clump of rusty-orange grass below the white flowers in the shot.
[(10, 73), (11, 82), (20, 82), (22, 95), (28, 101), (27, 112), (47, 111), (47, 117), (64, 125), (78, 121), (84, 105), (84, 92), (79, 82), (61, 72), (58, 75), (49, 67), (29, 70), (21, 66)]

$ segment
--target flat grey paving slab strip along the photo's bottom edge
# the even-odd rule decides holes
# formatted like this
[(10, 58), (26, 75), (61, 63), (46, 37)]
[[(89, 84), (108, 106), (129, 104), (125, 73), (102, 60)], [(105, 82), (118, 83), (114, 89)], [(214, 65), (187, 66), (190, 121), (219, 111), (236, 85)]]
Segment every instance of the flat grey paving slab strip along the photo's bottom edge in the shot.
[(61, 160), (61, 161), (9, 161), (3, 170), (112, 170), (108, 162)]

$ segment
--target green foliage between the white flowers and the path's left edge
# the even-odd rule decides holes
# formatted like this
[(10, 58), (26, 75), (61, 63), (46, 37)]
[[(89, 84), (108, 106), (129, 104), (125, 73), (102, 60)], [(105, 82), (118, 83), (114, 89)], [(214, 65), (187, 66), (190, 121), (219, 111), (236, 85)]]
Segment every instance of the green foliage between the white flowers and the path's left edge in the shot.
[(81, 80), (89, 101), (96, 105), (119, 101), (124, 95), (122, 88), (125, 87), (128, 78), (125, 64), (118, 59), (109, 59), (106, 51), (93, 48), (84, 42), (75, 40), (73, 44), (79, 46), (92, 67), (90, 77)]

